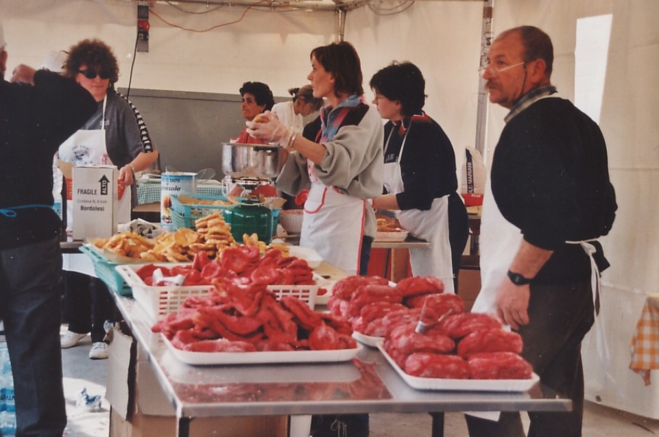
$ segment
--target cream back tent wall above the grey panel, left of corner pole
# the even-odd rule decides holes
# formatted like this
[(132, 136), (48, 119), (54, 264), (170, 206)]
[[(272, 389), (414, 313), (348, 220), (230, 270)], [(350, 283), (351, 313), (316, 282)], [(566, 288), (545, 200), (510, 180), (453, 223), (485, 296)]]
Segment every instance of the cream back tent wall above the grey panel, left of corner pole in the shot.
[[(203, 12), (206, 5), (180, 3)], [(157, 3), (154, 11), (180, 27), (204, 30), (239, 20), (245, 8), (223, 6), (207, 14), (185, 14)], [(84, 38), (104, 40), (117, 55), (128, 86), (136, 38), (136, 2), (126, 0), (3, 0), (0, 18), (10, 54), (8, 68), (38, 66), (47, 51), (68, 49)], [(208, 32), (172, 27), (150, 14), (149, 51), (138, 52), (132, 88), (238, 94), (243, 82), (260, 81), (274, 95), (306, 84), (309, 52), (334, 40), (333, 12), (249, 10), (239, 23)]]

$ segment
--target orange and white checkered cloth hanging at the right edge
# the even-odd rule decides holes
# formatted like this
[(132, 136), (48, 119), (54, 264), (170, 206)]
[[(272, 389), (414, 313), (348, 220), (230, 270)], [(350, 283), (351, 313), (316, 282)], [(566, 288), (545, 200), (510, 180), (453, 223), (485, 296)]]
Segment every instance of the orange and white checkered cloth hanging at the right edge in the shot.
[(647, 297), (636, 323), (630, 369), (643, 377), (646, 386), (650, 384), (650, 371), (659, 369), (659, 294)]

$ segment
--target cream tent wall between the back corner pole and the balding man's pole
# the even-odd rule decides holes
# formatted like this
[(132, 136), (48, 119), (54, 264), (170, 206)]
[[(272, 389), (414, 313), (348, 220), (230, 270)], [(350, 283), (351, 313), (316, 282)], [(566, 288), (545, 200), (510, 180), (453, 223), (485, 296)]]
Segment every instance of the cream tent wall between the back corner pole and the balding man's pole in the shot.
[[(386, 3), (383, 3), (386, 4)], [(392, 61), (409, 61), (426, 79), (424, 110), (451, 139), (457, 168), (464, 147), (474, 146), (483, 3), (418, 1), (402, 14), (377, 15), (369, 8), (348, 12), (347, 41), (359, 52), (368, 82)]]

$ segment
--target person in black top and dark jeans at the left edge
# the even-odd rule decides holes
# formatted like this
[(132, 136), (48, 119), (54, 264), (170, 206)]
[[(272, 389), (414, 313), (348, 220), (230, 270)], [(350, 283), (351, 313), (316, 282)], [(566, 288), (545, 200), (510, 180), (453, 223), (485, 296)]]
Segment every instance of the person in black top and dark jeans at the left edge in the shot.
[(0, 23), (0, 319), (16, 392), (17, 436), (62, 436), (67, 425), (59, 344), (60, 218), (53, 155), (95, 112), (73, 80), (26, 65), (5, 81)]

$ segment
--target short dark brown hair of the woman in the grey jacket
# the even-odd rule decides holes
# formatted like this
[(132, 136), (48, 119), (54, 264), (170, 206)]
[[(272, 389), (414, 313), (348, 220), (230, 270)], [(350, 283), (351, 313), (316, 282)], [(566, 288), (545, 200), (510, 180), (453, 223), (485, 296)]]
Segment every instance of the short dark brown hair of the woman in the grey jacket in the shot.
[(361, 61), (355, 47), (350, 42), (333, 42), (330, 45), (316, 47), (310, 58), (315, 58), (334, 77), (334, 94), (362, 95), (363, 76)]

